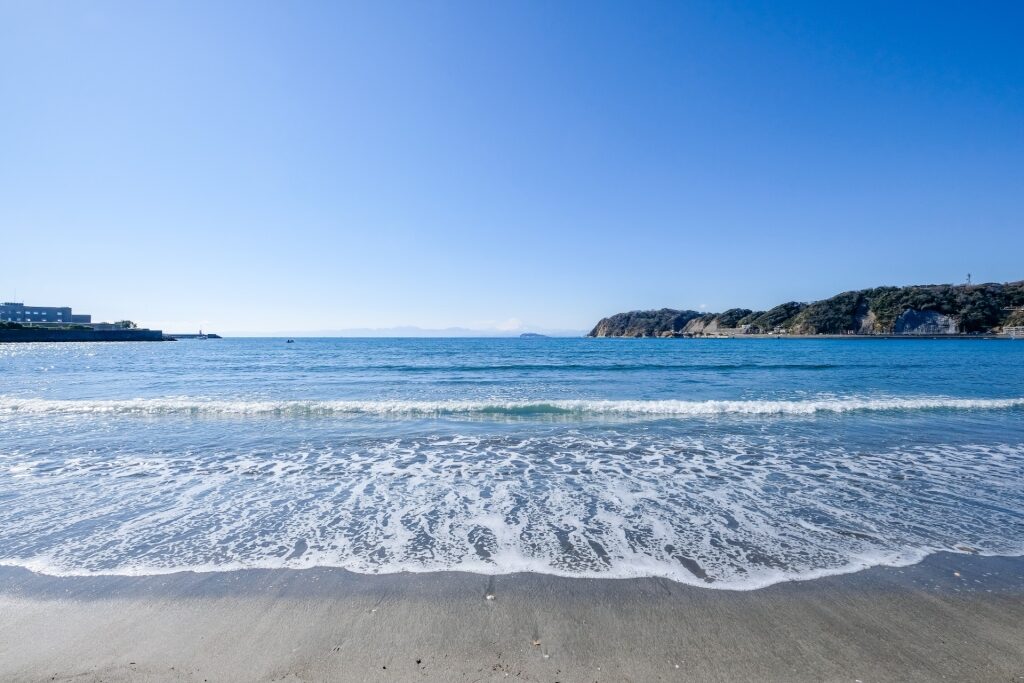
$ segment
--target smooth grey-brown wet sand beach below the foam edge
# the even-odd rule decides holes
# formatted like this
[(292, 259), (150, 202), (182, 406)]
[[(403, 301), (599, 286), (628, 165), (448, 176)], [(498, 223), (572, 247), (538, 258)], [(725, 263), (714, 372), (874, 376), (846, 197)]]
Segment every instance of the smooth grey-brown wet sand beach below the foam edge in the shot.
[(539, 574), (0, 568), (0, 680), (1024, 681), (1024, 560), (940, 554), (746, 592)]

